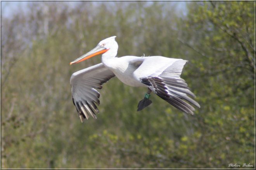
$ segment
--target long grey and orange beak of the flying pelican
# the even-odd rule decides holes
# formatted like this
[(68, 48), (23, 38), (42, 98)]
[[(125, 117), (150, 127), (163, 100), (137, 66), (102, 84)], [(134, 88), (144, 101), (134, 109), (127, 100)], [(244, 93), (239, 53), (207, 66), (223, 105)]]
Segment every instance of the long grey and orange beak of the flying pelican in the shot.
[(109, 49), (99, 46), (97, 45), (95, 48), (93, 48), (91, 51), (89, 51), (88, 53), (82, 55), (81, 57), (79, 57), (78, 59), (72, 61), (69, 63), (69, 65), (72, 65), (74, 63), (79, 63), (81, 61), (85, 61), (86, 59), (92, 58), (94, 56), (97, 56), (99, 54), (103, 54), (106, 53)]

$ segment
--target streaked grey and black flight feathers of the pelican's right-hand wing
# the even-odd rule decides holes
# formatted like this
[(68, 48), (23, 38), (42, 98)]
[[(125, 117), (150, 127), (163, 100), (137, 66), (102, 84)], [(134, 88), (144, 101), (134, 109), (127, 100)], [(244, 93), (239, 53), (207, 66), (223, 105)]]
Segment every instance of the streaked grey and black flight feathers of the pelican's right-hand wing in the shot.
[(200, 105), (189, 97), (195, 97), (195, 95), (189, 90), (185, 80), (180, 78), (186, 62), (186, 60), (177, 59), (177, 61), (168, 66), (160, 75), (148, 76), (140, 78), (140, 80), (169, 104), (185, 113), (193, 115), (195, 109), (190, 104), (197, 107), (200, 107)]

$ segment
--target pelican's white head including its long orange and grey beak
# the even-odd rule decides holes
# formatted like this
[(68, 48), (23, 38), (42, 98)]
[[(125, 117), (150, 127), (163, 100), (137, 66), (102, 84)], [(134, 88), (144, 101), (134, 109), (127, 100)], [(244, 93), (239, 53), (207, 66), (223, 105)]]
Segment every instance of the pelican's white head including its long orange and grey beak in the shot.
[(100, 41), (99, 44), (95, 48), (93, 48), (91, 51), (82, 55), (81, 57), (72, 61), (69, 64), (72, 65), (74, 63), (79, 63), (81, 61), (89, 59), (93, 56), (97, 56), (99, 54), (103, 54), (104, 56), (109, 56), (109, 57), (115, 57), (118, 50), (118, 44), (115, 38), (116, 36), (112, 36)]

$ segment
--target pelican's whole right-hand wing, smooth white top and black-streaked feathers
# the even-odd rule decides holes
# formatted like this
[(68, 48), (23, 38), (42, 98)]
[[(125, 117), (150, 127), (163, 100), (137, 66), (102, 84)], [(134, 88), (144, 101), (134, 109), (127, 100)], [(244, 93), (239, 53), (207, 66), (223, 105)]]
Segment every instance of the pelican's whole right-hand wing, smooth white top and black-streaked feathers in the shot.
[[(189, 103), (197, 107), (200, 107), (200, 105), (188, 96), (195, 97), (194, 93), (189, 90), (185, 80), (180, 78), (187, 60), (162, 56), (143, 58), (141, 65), (134, 71), (133, 75), (177, 109), (194, 114), (193, 111), (195, 109)], [(141, 60), (137, 59), (134, 62), (138, 63)]]

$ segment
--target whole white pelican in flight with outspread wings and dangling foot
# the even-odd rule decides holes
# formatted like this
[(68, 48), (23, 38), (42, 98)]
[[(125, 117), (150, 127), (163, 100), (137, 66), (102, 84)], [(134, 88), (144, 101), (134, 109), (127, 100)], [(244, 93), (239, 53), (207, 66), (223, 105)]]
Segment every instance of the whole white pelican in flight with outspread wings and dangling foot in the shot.
[(88, 119), (89, 115), (97, 119), (96, 113), (99, 113), (99, 109), (95, 104), (100, 104), (100, 93), (95, 88), (101, 89), (114, 76), (126, 85), (147, 87), (147, 93), (138, 103), (137, 111), (152, 103), (149, 97), (154, 92), (177, 109), (194, 114), (194, 107), (187, 102), (197, 107), (200, 105), (188, 96), (195, 97), (185, 80), (180, 78), (187, 60), (163, 56), (117, 58), (118, 44), (115, 38), (116, 36), (112, 36), (100, 41), (90, 52), (70, 63), (72, 65), (102, 54), (102, 63), (77, 71), (70, 78), (72, 99), (81, 122)]

